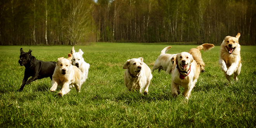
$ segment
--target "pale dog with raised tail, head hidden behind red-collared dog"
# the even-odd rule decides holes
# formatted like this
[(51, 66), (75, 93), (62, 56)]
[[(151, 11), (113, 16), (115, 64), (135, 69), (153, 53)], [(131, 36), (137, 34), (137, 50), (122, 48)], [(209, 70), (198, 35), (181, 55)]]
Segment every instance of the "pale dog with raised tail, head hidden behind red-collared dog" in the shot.
[(170, 48), (171, 46), (168, 46), (161, 51), (161, 54), (156, 59), (152, 71), (158, 69), (158, 72), (160, 72), (162, 69), (166, 74), (171, 73), (173, 68), (173, 62), (171, 61), (171, 58), (176, 54), (165, 54)]

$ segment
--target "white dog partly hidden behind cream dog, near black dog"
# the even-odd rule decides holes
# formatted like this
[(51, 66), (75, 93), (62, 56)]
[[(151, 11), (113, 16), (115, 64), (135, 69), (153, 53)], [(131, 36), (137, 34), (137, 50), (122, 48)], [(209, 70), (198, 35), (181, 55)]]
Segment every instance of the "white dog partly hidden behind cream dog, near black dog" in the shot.
[(90, 64), (86, 63), (83, 59), (83, 51), (81, 49), (78, 50), (78, 52), (75, 52), (74, 46), (71, 49), (70, 52), (73, 56), (72, 58), (72, 65), (78, 67), (82, 71), (82, 84), (85, 82), (85, 80), (88, 78), (88, 70), (90, 68)]

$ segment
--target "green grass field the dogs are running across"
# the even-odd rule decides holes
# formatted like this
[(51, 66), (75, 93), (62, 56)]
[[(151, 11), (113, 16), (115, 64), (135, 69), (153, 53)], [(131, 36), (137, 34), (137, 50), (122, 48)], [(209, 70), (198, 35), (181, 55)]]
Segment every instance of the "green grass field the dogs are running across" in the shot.
[[(75, 46), (90, 64), (88, 79), (76, 93), (64, 97), (50, 92), (44, 78), (20, 88), (24, 66), (19, 66), (20, 48), (31, 49), (42, 61), (67, 58), (71, 46), (0, 47), (0, 127), (256, 127), (256, 46), (241, 46), (239, 81), (228, 82), (218, 64), (220, 46), (201, 52), (201, 73), (189, 100), (171, 96), (171, 75), (152, 73), (149, 95), (128, 92), (123, 64), (143, 57), (152, 69), (160, 51), (171, 43), (94, 43)], [(196, 45), (171, 45), (167, 52), (188, 52)], [(183, 92), (183, 88), (181, 88)]]

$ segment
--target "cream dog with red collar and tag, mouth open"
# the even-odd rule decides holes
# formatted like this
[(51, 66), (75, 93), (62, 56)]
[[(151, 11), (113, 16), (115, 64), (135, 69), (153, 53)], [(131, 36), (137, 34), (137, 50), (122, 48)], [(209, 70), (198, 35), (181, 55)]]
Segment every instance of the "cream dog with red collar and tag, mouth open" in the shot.
[(180, 86), (184, 88), (182, 95), (189, 99), (192, 89), (197, 82), (200, 68), (191, 54), (182, 52), (176, 55), (175, 68), (171, 72), (171, 93), (175, 98), (180, 94)]

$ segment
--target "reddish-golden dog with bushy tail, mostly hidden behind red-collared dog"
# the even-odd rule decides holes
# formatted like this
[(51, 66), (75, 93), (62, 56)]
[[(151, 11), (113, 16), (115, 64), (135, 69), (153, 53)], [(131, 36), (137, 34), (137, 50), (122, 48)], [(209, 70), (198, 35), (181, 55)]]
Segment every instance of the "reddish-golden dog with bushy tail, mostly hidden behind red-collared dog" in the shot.
[(204, 72), (204, 61), (202, 60), (202, 56), (201, 56), (201, 52), (200, 50), (210, 50), (211, 48), (213, 48), (214, 45), (210, 44), (210, 43), (204, 43), (202, 45), (197, 46), (196, 48), (191, 48), (189, 50), (189, 53), (193, 56), (195, 62), (197, 62), (197, 64), (200, 66), (200, 70), (201, 73)]

